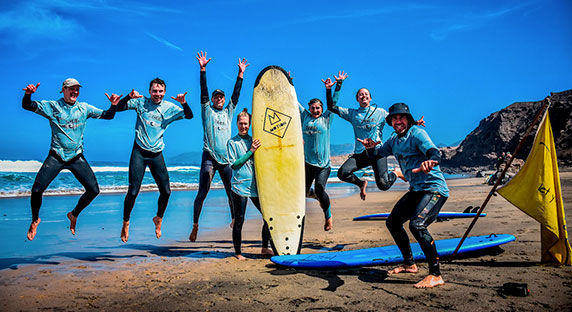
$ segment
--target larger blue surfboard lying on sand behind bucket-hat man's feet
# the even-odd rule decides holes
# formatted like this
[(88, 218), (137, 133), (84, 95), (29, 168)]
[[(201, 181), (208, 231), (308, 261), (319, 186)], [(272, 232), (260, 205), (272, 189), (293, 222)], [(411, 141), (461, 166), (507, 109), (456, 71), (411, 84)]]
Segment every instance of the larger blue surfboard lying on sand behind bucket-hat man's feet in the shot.
[[(468, 253), (499, 246), (515, 240), (510, 234), (491, 234), (467, 237), (457, 254)], [(441, 258), (450, 256), (461, 238), (440, 239), (435, 241), (437, 253)], [(413, 258), (425, 260), (425, 254), (418, 243), (411, 244)], [(337, 269), (370, 265), (383, 265), (403, 262), (401, 252), (396, 245), (357, 249), (348, 251), (325, 252), (315, 254), (284, 255), (270, 258), (272, 262), (295, 268)]]

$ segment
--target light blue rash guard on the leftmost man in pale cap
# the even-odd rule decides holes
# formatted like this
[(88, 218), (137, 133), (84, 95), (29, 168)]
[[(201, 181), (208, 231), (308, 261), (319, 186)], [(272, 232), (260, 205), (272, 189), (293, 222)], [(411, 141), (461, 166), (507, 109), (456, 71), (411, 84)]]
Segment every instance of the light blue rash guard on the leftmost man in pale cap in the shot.
[(37, 105), (35, 113), (46, 117), (52, 128), (50, 148), (64, 161), (83, 152), (83, 132), (88, 118), (99, 118), (103, 110), (85, 102), (68, 104), (63, 98), (57, 101), (32, 101)]

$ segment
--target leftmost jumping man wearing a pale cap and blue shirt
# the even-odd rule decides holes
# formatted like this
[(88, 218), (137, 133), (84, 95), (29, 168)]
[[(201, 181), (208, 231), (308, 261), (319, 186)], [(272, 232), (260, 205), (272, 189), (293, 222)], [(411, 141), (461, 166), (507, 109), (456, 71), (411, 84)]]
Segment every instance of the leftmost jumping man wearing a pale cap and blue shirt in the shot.
[(80, 212), (99, 194), (99, 185), (91, 167), (83, 156), (83, 132), (88, 118), (113, 119), (116, 105), (121, 96), (105, 94), (111, 107), (103, 111), (84, 102), (78, 102), (80, 83), (74, 78), (64, 80), (63, 98), (57, 101), (32, 101), (40, 83), (29, 84), (22, 99), (22, 108), (46, 117), (52, 128), (52, 142), (48, 157), (36, 175), (30, 197), (32, 223), (28, 229), (28, 239), (33, 240), (40, 224), (42, 194), (63, 169), (68, 169), (85, 188), (75, 208), (68, 212), (70, 230), (75, 235), (75, 225)]

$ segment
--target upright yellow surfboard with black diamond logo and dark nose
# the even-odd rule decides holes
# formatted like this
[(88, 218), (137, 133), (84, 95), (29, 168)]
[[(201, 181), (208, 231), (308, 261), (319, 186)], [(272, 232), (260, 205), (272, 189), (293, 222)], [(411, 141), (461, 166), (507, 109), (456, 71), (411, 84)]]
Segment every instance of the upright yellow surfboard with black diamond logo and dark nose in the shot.
[(278, 255), (300, 253), (305, 214), (304, 144), (296, 91), (278, 66), (263, 69), (252, 95), (252, 136), (262, 216)]

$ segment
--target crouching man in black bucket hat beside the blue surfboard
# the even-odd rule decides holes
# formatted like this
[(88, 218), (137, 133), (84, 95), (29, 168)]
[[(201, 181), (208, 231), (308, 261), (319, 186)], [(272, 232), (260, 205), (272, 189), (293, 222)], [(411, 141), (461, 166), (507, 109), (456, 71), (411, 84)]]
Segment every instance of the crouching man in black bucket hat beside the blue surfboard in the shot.
[(439, 255), (435, 241), (427, 227), (435, 221), (439, 210), (449, 197), (449, 189), (439, 169), (440, 152), (427, 132), (415, 126), (415, 119), (404, 103), (389, 108), (386, 121), (395, 133), (381, 146), (372, 139), (359, 140), (372, 158), (394, 155), (405, 178), (409, 191), (395, 204), (387, 218), (387, 228), (403, 255), (404, 264), (390, 270), (389, 274), (417, 273), (409, 237), (403, 224), (409, 221), (409, 229), (419, 242), (429, 264), (429, 275), (415, 284), (416, 288), (443, 285), (439, 269)]

